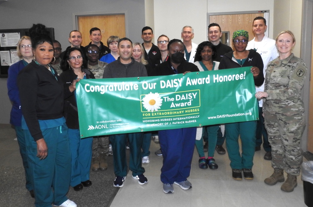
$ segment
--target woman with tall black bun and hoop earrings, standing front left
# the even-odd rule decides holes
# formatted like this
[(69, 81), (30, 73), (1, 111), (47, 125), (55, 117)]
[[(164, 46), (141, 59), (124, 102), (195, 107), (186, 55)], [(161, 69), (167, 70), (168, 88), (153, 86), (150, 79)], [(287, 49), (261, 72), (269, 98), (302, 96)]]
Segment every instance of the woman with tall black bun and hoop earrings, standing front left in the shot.
[(18, 74), (22, 107), (22, 129), (35, 193), (35, 206), (76, 207), (66, 196), (71, 175), (68, 128), (63, 117), (64, 88), (58, 73), (49, 64), (53, 43), (42, 24), (29, 29), (34, 60)]

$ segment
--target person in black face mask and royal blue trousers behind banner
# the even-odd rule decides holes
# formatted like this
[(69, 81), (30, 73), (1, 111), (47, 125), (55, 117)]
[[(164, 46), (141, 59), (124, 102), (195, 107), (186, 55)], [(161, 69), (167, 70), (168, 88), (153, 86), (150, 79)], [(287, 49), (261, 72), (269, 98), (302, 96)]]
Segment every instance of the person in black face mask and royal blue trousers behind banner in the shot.
[[(179, 39), (172, 39), (167, 45), (169, 58), (155, 67), (153, 74), (174, 75), (197, 72), (198, 67), (184, 58), (184, 44)], [(192, 154), (196, 141), (196, 127), (167, 129), (159, 131), (159, 140), (163, 154), (161, 181), (164, 193), (174, 193), (173, 184), (182, 189), (192, 188), (187, 180), (190, 175)]]

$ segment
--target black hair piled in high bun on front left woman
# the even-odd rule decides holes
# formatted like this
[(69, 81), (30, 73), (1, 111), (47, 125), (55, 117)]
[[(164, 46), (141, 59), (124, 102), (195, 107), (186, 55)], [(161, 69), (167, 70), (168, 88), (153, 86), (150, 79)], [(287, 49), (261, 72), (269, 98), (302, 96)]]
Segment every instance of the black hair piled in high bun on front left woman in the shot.
[(46, 26), (43, 24), (33, 24), (33, 27), (29, 30), (29, 36), (32, 41), (32, 48), (36, 49), (39, 44), (47, 42), (52, 45), (52, 39), (50, 38), (50, 33), (46, 30)]

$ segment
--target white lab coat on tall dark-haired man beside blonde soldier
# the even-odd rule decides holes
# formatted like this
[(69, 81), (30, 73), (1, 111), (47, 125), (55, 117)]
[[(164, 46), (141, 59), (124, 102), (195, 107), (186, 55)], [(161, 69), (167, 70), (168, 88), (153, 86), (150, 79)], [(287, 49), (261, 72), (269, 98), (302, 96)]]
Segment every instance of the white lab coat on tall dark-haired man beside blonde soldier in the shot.
[[(248, 46), (247, 46), (246, 50), (254, 49), (254, 43), (255, 43), (254, 39), (255, 38), (253, 38), (253, 40), (248, 42)], [(269, 64), (269, 62), (276, 59), (279, 56), (275, 43), (276, 43), (275, 40), (270, 39), (265, 35), (264, 38), (262, 39), (261, 43), (259, 44), (258, 49), (256, 50), (256, 52), (258, 52), (261, 55), (262, 60), (263, 60), (264, 78), (265, 78), (266, 68), (267, 68), (267, 65)], [(261, 69), (261, 68), (259, 68), (259, 69)], [(260, 87), (255, 87), (255, 90), (256, 90), (256, 92), (264, 91), (264, 83)], [(259, 101), (259, 106), (262, 107), (262, 105), (263, 105), (263, 99), (261, 99)]]

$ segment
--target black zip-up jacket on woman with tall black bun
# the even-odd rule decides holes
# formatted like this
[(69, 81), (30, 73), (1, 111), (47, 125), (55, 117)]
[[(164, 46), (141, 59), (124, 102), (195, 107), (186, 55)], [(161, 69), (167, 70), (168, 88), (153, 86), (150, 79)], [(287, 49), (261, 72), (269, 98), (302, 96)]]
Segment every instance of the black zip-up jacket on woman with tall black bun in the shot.
[(22, 114), (35, 141), (44, 137), (38, 120), (62, 118), (64, 94), (70, 95), (69, 88), (64, 88), (58, 73), (54, 68), (50, 69), (55, 75), (33, 60), (18, 73)]

